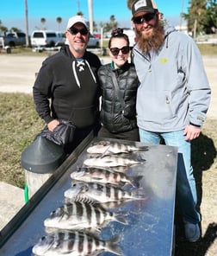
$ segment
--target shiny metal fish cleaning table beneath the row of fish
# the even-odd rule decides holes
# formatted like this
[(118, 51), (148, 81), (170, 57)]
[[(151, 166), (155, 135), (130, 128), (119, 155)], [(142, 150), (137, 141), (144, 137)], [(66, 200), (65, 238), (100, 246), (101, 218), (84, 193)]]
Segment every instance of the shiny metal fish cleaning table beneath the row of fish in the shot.
[[(65, 202), (64, 192), (71, 187), (71, 172), (89, 157), (90, 144), (102, 141), (86, 138), (65, 160), (53, 176), (1, 231), (0, 255), (32, 255), (33, 246), (46, 234), (43, 225), (49, 214)], [(166, 145), (133, 143), (105, 139), (111, 142), (147, 146), (148, 150), (130, 153), (130, 159), (140, 164), (127, 170), (129, 176), (142, 176), (140, 188), (146, 200), (127, 202), (118, 211), (126, 213), (127, 225), (115, 221), (102, 228), (100, 238), (109, 240), (120, 235), (119, 246), (125, 256), (172, 255), (175, 194), (177, 180), (177, 148)], [(102, 255), (115, 255), (102, 253)]]

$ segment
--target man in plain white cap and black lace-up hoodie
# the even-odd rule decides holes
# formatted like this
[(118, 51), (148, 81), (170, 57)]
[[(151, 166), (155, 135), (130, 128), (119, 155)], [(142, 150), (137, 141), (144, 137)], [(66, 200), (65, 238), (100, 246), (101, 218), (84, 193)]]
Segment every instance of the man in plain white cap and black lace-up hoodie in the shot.
[(59, 119), (76, 125), (73, 143), (65, 145), (65, 152), (70, 153), (99, 122), (96, 73), (101, 61), (86, 50), (90, 32), (83, 16), (69, 19), (65, 36), (59, 53), (42, 63), (33, 94), (36, 111), (50, 131), (59, 125)]

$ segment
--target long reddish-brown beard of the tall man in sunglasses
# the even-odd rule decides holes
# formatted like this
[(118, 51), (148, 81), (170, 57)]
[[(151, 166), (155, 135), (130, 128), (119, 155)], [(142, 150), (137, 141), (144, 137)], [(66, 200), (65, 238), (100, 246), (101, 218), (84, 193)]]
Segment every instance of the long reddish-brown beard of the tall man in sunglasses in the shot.
[(140, 30), (136, 30), (136, 41), (138, 48), (147, 54), (150, 50), (158, 50), (164, 43), (164, 27), (157, 23), (156, 27), (152, 28), (151, 35), (143, 35)]

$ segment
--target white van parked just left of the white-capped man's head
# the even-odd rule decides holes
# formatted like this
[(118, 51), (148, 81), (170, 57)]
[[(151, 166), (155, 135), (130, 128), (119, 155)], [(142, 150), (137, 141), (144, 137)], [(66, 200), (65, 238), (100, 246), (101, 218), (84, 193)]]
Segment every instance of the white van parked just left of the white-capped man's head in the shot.
[(52, 30), (34, 30), (31, 35), (32, 47), (55, 47), (65, 43), (64, 33)]

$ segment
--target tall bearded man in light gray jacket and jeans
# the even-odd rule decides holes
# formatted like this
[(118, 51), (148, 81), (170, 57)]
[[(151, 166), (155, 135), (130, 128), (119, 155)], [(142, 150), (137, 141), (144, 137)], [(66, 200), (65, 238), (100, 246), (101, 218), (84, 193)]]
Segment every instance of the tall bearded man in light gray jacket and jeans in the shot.
[(186, 239), (200, 238), (201, 216), (191, 166), (190, 141), (202, 131), (210, 87), (202, 57), (189, 35), (161, 19), (156, 3), (136, 0), (132, 21), (137, 44), (133, 62), (140, 80), (137, 92), (140, 141), (178, 147), (177, 203), (183, 214)]

